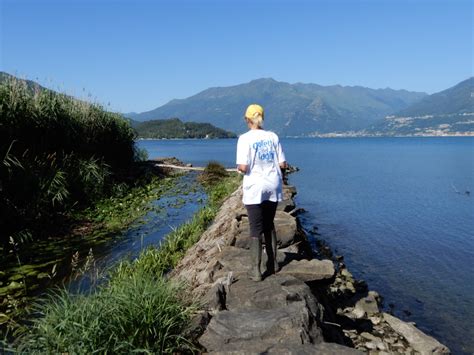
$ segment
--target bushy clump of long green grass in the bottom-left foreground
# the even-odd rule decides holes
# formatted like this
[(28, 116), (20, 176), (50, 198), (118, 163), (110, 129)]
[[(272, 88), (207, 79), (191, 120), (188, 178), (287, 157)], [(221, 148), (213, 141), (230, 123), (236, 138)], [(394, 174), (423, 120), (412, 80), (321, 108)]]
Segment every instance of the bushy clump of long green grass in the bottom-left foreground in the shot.
[(38, 311), (16, 349), (30, 354), (173, 353), (190, 350), (181, 336), (194, 310), (183, 285), (151, 275), (114, 278), (93, 294), (60, 291)]

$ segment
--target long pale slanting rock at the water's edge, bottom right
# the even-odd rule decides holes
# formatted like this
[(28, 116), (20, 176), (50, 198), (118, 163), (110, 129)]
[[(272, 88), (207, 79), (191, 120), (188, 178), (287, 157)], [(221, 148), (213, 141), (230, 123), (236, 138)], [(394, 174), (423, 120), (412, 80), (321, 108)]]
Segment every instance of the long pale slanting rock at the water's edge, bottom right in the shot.
[(390, 314), (384, 313), (383, 319), (397, 333), (403, 335), (410, 346), (422, 355), (450, 354), (449, 349), (436, 339), (426, 335), (414, 325), (406, 323)]

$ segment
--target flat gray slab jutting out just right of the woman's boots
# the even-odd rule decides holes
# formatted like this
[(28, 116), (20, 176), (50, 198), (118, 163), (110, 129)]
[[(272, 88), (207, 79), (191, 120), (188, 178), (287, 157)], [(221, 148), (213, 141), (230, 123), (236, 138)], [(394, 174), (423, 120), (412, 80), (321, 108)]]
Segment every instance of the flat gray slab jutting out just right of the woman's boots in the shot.
[(331, 260), (293, 260), (282, 268), (280, 274), (292, 275), (301, 281), (310, 282), (330, 279), (335, 270)]

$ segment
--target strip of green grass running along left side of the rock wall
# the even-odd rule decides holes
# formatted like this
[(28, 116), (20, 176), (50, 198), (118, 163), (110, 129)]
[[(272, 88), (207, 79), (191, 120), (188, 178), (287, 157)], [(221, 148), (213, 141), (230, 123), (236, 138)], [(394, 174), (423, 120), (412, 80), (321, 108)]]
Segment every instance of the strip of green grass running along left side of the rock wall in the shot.
[(136, 260), (123, 260), (96, 292), (59, 291), (37, 306), (41, 317), (17, 338), (16, 351), (28, 353), (173, 353), (197, 351), (186, 335), (198, 309), (185, 285), (166, 278), (200, 238), (223, 200), (240, 184), (237, 175), (207, 186), (208, 204)]

